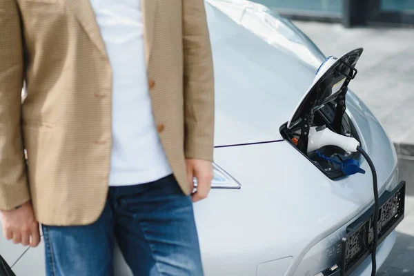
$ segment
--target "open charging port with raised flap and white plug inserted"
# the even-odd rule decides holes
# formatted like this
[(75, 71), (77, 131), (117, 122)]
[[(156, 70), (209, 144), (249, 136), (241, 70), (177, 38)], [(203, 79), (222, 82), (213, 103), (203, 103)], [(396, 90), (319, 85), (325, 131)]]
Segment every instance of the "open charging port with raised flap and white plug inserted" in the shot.
[(290, 119), (280, 128), (282, 137), (330, 179), (364, 173), (357, 152), (361, 143), (346, 114), (348, 83), (357, 75), (355, 65), (362, 52), (357, 48), (339, 58), (327, 57)]

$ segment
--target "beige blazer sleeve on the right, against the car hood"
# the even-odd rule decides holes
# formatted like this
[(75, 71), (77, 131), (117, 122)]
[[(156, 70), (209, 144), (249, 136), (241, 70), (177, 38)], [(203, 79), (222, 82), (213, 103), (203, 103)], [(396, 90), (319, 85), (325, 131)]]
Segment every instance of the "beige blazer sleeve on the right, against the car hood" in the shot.
[(206, 10), (203, 0), (182, 1), (185, 155), (213, 161), (215, 91)]

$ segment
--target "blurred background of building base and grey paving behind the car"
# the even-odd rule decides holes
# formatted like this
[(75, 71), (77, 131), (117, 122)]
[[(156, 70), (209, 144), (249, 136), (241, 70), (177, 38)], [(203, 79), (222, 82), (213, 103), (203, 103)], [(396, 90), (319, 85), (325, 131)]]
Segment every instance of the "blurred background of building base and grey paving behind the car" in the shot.
[(379, 276), (414, 275), (414, 0), (255, 0), (288, 17), (324, 52), (364, 48), (350, 88), (395, 144), (406, 218)]

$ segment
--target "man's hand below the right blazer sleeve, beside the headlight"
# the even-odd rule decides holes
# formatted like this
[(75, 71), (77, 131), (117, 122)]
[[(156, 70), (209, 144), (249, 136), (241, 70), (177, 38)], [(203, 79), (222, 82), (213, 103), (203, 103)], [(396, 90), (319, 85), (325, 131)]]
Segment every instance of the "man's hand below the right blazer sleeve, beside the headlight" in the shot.
[(197, 179), (197, 192), (191, 196), (193, 202), (205, 199), (210, 192), (211, 181), (213, 180), (213, 164), (206, 160), (186, 159), (186, 166), (191, 191), (194, 189), (194, 177)]

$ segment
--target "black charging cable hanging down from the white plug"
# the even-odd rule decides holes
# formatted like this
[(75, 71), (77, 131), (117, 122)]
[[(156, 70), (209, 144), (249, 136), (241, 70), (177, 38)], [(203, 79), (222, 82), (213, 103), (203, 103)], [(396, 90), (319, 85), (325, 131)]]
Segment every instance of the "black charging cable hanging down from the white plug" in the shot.
[(375, 201), (375, 210), (374, 210), (374, 221), (373, 221), (373, 232), (374, 240), (373, 247), (371, 251), (371, 259), (373, 263), (373, 269), (371, 271), (371, 276), (375, 276), (377, 273), (377, 244), (378, 244), (378, 216), (380, 215), (380, 199), (378, 198), (378, 184), (377, 184), (377, 171), (375, 170), (373, 161), (369, 158), (368, 154), (360, 146), (357, 147), (357, 150), (364, 156), (368, 162), (371, 172), (373, 173), (373, 188), (374, 188), (374, 201)]

